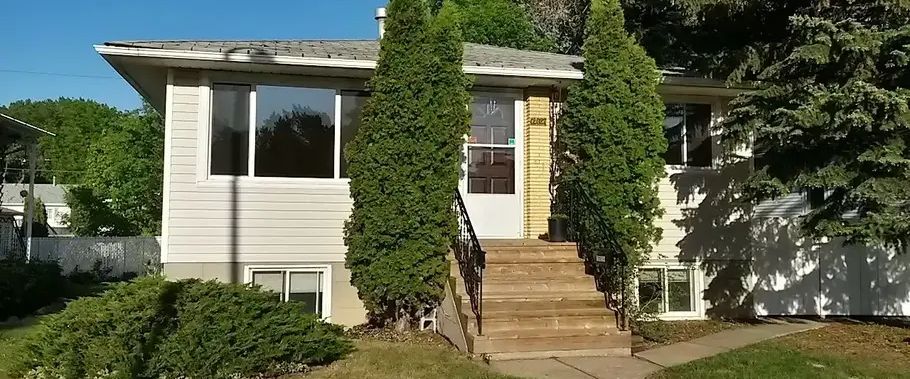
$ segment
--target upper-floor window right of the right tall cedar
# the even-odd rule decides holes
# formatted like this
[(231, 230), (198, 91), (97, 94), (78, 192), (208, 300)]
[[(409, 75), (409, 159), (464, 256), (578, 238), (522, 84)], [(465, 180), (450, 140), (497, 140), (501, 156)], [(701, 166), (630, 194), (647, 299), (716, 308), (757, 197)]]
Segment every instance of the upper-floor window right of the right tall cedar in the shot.
[(711, 105), (666, 104), (664, 135), (668, 165), (711, 167)]

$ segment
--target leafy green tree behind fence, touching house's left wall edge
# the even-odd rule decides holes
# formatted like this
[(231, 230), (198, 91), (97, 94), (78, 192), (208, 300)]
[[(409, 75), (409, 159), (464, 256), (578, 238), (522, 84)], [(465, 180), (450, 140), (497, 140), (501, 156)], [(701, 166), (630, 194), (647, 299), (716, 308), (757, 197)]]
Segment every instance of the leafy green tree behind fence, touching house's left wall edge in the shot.
[(158, 235), (161, 230), (164, 123), (145, 104), (92, 143), (82, 183), (70, 188), (76, 235)]

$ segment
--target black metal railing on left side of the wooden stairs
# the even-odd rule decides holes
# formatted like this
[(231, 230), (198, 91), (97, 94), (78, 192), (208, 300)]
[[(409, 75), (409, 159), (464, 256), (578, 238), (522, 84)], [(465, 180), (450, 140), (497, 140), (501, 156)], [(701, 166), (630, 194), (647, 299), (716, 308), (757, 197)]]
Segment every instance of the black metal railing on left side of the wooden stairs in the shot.
[(452, 205), (458, 217), (458, 234), (452, 241), (458, 271), (464, 279), (465, 291), (471, 300), (471, 311), (477, 319), (477, 335), (483, 334), (483, 269), (486, 268), (486, 252), (480, 247), (474, 226), (464, 206), (461, 193), (455, 190), (455, 202)]

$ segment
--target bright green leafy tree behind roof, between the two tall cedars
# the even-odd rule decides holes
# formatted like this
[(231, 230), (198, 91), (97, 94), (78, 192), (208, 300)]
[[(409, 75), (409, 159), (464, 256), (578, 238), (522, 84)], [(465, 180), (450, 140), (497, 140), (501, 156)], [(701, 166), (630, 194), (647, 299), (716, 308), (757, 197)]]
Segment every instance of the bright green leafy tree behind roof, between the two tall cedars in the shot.
[(551, 51), (553, 40), (534, 27), (513, 0), (450, 0), (465, 41), (524, 50)]

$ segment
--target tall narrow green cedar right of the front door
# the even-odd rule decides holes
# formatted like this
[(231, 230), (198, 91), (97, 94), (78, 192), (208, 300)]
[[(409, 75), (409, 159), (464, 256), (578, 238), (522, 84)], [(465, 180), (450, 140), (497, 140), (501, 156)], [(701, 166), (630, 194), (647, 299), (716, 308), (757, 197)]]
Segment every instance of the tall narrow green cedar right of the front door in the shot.
[(557, 125), (557, 180), (563, 189), (589, 190), (634, 266), (661, 236), (654, 220), (663, 213), (657, 184), (667, 141), (659, 77), (623, 29), (618, 0), (594, 2), (584, 58), (584, 80), (569, 88)]

